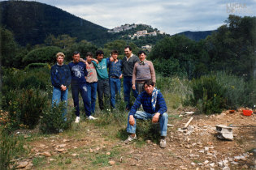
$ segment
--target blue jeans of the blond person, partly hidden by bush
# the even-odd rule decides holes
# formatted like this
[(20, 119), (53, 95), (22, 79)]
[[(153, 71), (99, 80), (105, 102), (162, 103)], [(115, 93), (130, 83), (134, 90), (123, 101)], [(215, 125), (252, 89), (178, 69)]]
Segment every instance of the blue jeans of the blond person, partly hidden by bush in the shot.
[(63, 115), (62, 115), (63, 117), (65, 117), (67, 114), (67, 94), (68, 94), (68, 88), (66, 91), (62, 91), (60, 88), (54, 87), (51, 106), (52, 107), (54, 107), (54, 105), (57, 106), (59, 105), (60, 101), (63, 101), (64, 102)]

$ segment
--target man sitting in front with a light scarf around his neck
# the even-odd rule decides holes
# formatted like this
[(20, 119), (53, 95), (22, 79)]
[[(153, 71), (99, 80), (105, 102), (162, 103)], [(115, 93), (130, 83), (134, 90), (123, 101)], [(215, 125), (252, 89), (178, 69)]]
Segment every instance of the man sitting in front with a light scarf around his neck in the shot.
[[(128, 125), (127, 132), (130, 134), (128, 139), (124, 141), (124, 143), (132, 142), (137, 139), (136, 136), (136, 120), (142, 119), (152, 119), (153, 123), (160, 123), (160, 133), (161, 133), (161, 141), (160, 147), (166, 147), (166, 139), (167, 136), (167, 123), (168, 123), (168, 115), (167, 115), (167, 105), (165, 100), (163, 99), (163, 95), (158, 89), (154, 87), (154, 82), (152, 80), (146, 80), (144, 83), (145, 91), (141, 92), (141, 94), (137, 97), (135, 103), (133, 104), (129, 115), (128, 115)], [(137, 111), (142, 104), (142, 108), (144, 112)]]

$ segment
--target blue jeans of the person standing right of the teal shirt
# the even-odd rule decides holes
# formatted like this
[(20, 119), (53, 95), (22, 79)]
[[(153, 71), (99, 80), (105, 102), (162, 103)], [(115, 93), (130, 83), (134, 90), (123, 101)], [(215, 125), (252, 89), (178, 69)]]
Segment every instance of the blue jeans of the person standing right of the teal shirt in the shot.
[(110, 86), (111, 86), (111, 106), (115, 108), (115, 94), (117, 95), (117, 97), (120, 96), (121, 80), (110, 78)]

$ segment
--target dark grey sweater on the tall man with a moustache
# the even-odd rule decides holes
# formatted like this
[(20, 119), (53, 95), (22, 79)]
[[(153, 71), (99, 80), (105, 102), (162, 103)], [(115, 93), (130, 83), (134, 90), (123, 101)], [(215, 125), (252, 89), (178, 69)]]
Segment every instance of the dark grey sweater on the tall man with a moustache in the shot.
[(124, 57), (122, 62), (123, 62), (123, 75), (124, 76), (129, 76), (132, 77), (132, 72), (134, 68), (134, 64), (136, 62), (139, 62), (140, 59), (136, 55), (132, 54), (132, 56), (128, 59), (127, 57)]

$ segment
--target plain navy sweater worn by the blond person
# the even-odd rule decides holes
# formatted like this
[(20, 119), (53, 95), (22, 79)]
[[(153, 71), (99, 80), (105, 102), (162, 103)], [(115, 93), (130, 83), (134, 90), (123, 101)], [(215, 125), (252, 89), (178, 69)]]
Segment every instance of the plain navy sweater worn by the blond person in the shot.
[(55, 64), (50, 69), (50, 80), (54, 87), (60, 88), (61, 85), (66, 87), (71, 83), (71, 74), (67, 65), (59, 66)]

